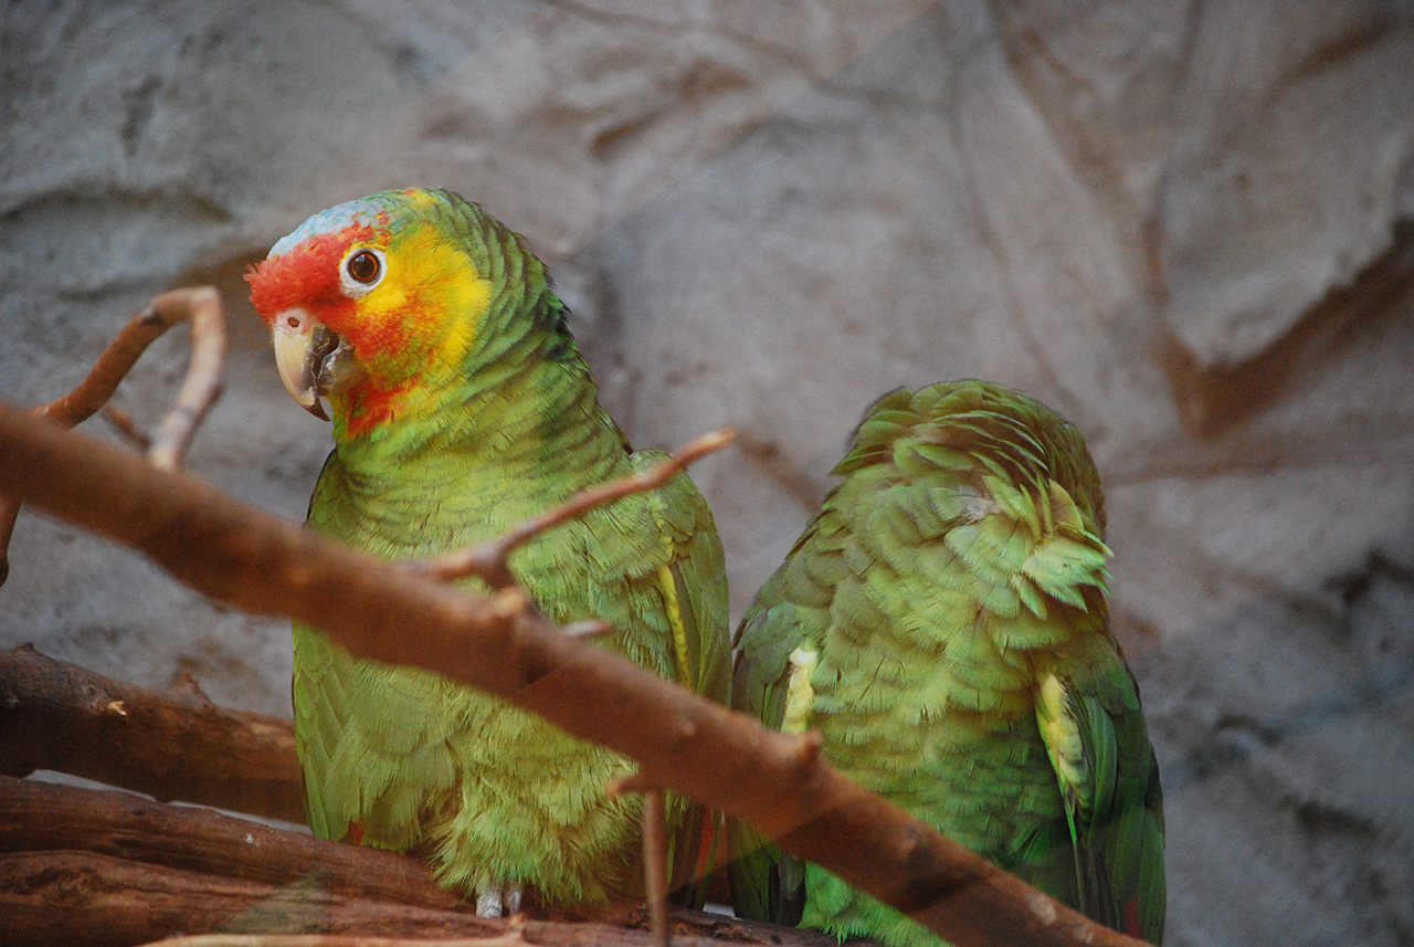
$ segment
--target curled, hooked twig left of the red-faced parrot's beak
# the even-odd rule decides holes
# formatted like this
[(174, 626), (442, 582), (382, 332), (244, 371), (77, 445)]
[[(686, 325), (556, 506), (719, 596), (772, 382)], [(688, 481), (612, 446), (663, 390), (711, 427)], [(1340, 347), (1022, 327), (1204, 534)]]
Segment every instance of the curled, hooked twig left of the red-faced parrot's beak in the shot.
[[(197, 425), (221, 394), (221, 366), (226, 346), (225, 311), (221, 295), (209, 286), (173, 290), (153, 300), (109, 342), (76, 389), (41, 404), (33, 413), (65, 431), (88, 420), (107, 404), (119, 382), (127, 377), (147, 346), (167, 329), (185, 321), (191, 321), (192, 342), (187, 380), (148, 448), (153, 464), (168, 471), (177, 469), (187, 455)], [(18, 514), (20, 505), (11, 498), (0, 496), (0, 585), (4, 585), (10, 574), (10, 537)]]

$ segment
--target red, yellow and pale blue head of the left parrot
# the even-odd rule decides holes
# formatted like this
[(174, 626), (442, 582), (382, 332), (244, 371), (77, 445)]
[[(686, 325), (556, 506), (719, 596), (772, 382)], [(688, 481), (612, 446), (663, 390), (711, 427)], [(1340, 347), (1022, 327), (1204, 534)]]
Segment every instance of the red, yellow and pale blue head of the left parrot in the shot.
[(328, 399), (351, 434), (433, 410), (465, 379), (508, 284), (546, 286), (516, 235), (430, 188), (315, 213), (246, 281), (290, 396), (324, 420)]

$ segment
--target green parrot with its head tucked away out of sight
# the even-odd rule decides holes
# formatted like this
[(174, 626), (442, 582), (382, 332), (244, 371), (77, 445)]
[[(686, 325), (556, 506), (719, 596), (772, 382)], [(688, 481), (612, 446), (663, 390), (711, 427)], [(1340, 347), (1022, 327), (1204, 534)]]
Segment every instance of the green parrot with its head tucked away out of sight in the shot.
[[(1070, 424), (983, 382), (899, 389), (738, 630), (732, 704), (1124, 933), (1164, 931), (1164, 814), (1110, 635), (1104, 500)], [(939, 939), (732, 824), (738, 914)]]

